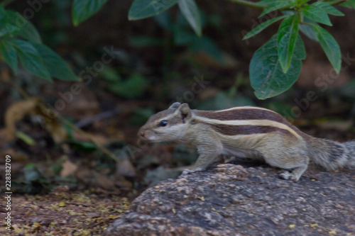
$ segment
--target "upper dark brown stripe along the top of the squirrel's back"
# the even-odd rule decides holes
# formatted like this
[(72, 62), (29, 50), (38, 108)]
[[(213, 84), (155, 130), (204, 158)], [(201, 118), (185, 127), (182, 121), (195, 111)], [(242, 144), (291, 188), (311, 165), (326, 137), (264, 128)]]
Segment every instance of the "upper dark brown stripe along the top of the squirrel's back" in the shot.
[(288, 122), (288, 120), (283, 118), (283, 116), (273, 111), (257, 109), (257, 108), (245, 108), (245, 109), (236, 109), (236, 110), (220, 111), (220, 112), (198, 111), (198, 110), (193, 110), (193, 111), (197, 116), (202, 116), (214, 120), (273, 120), (288, 125), (290, 128), (295, 130), (296, 133), (303, 136), (303, 133), (298, 128), (296, 128), (293, 124)]

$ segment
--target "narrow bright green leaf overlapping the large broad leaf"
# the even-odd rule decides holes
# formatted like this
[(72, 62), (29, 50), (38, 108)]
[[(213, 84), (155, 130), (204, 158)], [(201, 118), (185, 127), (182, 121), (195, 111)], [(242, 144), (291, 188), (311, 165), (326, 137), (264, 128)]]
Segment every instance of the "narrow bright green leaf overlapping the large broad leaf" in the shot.
[(288, 72), (293, 59), (293, 51), (295, 50), (298, 35), (298, 23), (300, 23), (300, 18), (295, 14), (285, 18), (278, 28), (278, 58), (283, 68), (283, 73)]

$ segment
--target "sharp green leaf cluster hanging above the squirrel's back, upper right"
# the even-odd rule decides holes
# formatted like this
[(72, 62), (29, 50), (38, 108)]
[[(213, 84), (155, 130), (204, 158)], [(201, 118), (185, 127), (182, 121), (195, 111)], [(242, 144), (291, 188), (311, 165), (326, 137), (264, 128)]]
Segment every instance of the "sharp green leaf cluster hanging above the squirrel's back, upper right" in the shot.
[(309, 0), (263, 0), (258, 4), (267, 4), (259, 17), (275, 10), (283, 13), (283, 16), (271, 18), (256, 26), (243, 38), (244, 40), (251, 38), (271, 24), (283, 20), (278, 33), (259, 48), (251, 59), (249, 67), (251, 86), (259, 99), (281, 94), (297, 81), (302, 60), (306, 57), (300, 32), (318, 41), (335, 72), (340, 72), (342, 67), (340, 47), (319, 23), (332, 26), (328, 15), (344, 16), (344, 13), (325, 1), (309, 4)]

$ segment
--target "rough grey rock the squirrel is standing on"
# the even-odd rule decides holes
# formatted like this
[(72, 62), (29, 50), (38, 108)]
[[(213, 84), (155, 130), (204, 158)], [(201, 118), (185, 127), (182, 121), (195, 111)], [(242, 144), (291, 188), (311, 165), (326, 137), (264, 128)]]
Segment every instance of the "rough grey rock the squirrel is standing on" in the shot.
[(219, 164), (147, 189), (106, 235), (355, 235), (354, 170)]

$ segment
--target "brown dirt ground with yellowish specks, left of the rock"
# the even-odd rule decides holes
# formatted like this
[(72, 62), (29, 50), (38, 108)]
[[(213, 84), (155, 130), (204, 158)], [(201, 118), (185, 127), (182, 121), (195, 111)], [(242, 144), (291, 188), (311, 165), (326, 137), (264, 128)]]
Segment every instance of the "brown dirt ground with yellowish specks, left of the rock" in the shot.
[[(0, 235), (102, 235), (129, 208), (128, 198), (70, 192), (58, 186), (47, 195), (11, 198), (11, 231), (0, 223)], [(5, 211), (5, 201), (0, 202)], [(6, 212), (1, 212), (1, 219)]]

